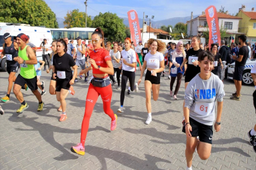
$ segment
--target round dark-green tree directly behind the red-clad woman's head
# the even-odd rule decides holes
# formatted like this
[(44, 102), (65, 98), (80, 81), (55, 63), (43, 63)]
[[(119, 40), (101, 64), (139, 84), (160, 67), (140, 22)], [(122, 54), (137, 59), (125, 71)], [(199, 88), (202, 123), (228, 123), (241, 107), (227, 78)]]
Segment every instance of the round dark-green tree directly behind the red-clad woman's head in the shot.
[(113, 13), (99, 13), (99, 15), (94, 17), (92, 21), (92, 27), (101, 27), (104, 31), (104, 38), (108, 41), (122, 41), (125, 39), (125, 25), (123, 24), (123, 19), (119, 18)]

